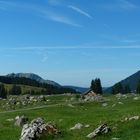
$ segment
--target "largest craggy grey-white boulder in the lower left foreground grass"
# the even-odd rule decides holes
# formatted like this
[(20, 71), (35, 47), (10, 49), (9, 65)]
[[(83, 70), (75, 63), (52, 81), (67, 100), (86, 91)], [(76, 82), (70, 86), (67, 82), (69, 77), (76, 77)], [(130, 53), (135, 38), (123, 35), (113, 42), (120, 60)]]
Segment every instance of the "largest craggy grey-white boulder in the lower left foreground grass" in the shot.
[(22, 128), (20, 140), (37, 140), (43, 135), (58, 134), (60, 131), (50, 124), (44, 123), (42, 118), (37, 118), (31, 121), (30, 124), (25, 124)]

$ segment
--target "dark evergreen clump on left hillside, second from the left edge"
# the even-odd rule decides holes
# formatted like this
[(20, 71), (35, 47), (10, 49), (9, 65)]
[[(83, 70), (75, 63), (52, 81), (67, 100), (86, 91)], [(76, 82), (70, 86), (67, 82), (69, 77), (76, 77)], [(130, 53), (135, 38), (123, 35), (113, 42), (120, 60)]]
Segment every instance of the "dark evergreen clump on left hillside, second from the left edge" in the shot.
[(12, 88), (9, 90), (10, 95), (20, 95), (21, 93), (21, 87), (17, 85), (13, 85)]

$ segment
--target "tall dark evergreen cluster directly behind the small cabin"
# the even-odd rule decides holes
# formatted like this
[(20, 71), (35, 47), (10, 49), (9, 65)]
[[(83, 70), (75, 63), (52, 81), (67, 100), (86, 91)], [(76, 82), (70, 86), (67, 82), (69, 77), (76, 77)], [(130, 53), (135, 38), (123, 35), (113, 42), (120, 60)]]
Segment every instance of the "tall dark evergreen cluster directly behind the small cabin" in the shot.
[(97, 94), (102, 94), (103, 91), (102, 91), (101, 80), (99, 78), (92, 80), (90, 89), (92, 89)]

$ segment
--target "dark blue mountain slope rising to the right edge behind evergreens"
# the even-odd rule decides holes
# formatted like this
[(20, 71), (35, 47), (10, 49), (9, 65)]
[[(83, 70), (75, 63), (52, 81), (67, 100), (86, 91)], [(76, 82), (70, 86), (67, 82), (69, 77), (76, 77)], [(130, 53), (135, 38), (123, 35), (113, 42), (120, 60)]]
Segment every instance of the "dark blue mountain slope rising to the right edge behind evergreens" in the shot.
[[(140, 81), (140, 71), (132, 74), (131, 76), (127, 77), (126, 79), (120, 81), (122, 86), (125, 87), (126, 85), (130, 86), (131, 91), (135, 91), (138, 85), (138, 82)], [(113, 87), (113, 86), (112, 86)], [(105, 92), (111, 92), (112, 87), (108, 88)]]

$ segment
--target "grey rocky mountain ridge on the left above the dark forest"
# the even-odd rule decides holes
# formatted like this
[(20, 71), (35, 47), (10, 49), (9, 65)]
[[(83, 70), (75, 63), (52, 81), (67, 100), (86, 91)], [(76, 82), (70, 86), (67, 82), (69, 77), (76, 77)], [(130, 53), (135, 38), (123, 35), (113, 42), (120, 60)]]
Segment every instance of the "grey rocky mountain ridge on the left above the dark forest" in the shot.
[(40, 83), (47, 83), (56, 87), (61, 87), (61, 85), (59, 85), (58, 83), (51, 81), (51, 80), (44, 80), (42, 77), (34, 74), (34, 73), (11, 73), (6, 75), (7, 77), (25, 77), (25, 78), (29, 78), (32, 80), (36, 80)]

